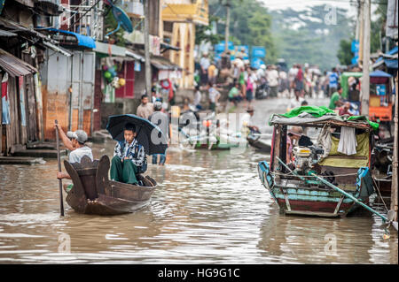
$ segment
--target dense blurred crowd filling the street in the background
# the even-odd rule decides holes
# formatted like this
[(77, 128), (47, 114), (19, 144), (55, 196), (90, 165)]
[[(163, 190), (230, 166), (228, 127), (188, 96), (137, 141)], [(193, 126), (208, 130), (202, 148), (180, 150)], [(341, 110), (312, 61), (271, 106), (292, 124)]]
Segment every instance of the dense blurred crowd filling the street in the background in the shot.
[[(245, 50), (240, 50), (231, 60), (230, 52), (219, 60), (211, 60), (204, 53), (196, 66), (196, 91), (193, 105), (198, 110), (215, 111), (222, 90), (227, 90), (232, 105), (245, 103), (248, 107), (254, 98), (291, 98), (288, 110), (300, 106), (306, 97), (331, 97), (338, 89), (340, 70), (321, 72), (317, 65), (293, 64), (288, 70), (285, 64), (251, 66), (244, 59)], [(208, 109), (201, 104), (202, 95), (207, 94)]]

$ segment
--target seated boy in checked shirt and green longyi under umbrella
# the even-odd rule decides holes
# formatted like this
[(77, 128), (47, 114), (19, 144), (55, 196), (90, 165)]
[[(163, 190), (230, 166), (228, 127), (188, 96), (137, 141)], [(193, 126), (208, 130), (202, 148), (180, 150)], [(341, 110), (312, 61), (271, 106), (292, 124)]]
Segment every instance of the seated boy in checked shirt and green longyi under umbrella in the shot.
[(146, 167), (145, 149), (136, 140), (136, 126), (126, 124), (123, 128), (124, 141), (116, 143), (111, 162), (113, 181), (137, 184), (137, 174)]

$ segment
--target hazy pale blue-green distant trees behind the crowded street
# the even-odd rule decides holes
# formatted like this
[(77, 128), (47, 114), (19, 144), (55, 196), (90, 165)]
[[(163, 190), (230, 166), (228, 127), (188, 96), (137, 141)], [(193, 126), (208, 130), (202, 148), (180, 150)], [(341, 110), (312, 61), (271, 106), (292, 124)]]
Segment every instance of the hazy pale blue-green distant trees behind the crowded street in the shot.
[[(348, 40), (355, 26), (347, 11), (340, 8), (334, 10), (335, 22), (327, 20), (329, 11), (325, 7), (318, 5), (305, 11), (289, 8), (273, 14), (278, 56), (284, 57), (288, 65), (308, 63), (328, 70), (340, 63), (340, 41)], [(349, 55), (353, 57), (350, 50)]]

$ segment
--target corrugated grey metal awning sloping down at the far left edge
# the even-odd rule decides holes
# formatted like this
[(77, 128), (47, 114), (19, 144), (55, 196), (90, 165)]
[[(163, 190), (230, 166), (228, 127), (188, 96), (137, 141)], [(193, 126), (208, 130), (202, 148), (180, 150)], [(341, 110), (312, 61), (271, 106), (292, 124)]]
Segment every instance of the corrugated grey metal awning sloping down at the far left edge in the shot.
[(0, 67), (12, 77), (25, 76), (35, 73), (37, 70), (32, 65), (27, 64), (18, 57), (0, 49)]

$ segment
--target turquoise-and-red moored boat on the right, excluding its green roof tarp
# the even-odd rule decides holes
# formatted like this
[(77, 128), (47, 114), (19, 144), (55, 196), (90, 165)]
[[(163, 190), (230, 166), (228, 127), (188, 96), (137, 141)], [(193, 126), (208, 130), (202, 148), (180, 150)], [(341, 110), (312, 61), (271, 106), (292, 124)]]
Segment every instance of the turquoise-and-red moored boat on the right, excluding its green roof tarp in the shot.
[[(346, 121), (334, 115), (321, 118), (273, 116), (270, 118), (270, 126), (274, 126), (270, 164), (260, 162), (258, 174), (282, 213), (344, 217), (358, 207), (358, 204), (345, 194), (368, 203), (369, 196), (374, 193), (374, 187), (370, 170), (372, 127), (367, 121)], [(293, 169), (286, 164), (287, 126), (320, 129), (331, 126), (336, 132), (340, 131), (342, 126), (355, 127), (356, 140), (360, 135), (363, 139), (361, 144), (357, 141), (356, 155), (347, 156), (331, 150), (328, 156), (316, 160), (314, 166), (301, 171), (296, 166), (296, 160)], [(333, 146), (334, 142), (332, 140)], [(360, 149), (359, 146), (364, 147)], [(313, 155), (313, 148), (311, 150)], [(315, 175), (317, 177), (314, 177)], [(320, 177), (328, 182), (320, 181)], [(332, 187), (340, 187), (341, 192)]]

